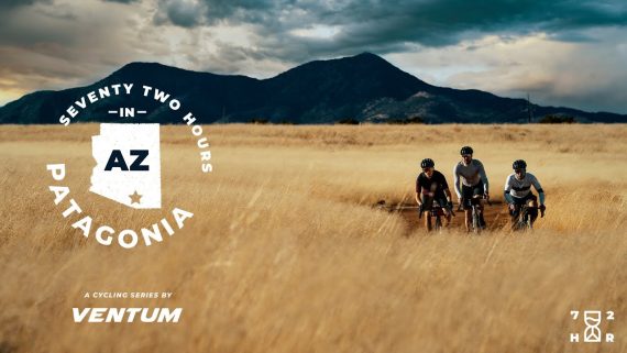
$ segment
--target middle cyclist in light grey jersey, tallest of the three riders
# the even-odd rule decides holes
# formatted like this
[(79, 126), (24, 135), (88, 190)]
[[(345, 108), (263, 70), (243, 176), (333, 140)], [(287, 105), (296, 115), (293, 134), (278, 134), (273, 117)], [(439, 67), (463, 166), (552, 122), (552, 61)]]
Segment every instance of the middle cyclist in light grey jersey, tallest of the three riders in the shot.
[(479, 220), (480, 227), (485, 228), (483, 202), (481, 201), (481, 198), (490, 200), (485, 168), (483, 167), (483, 163), (479, 159), (473, 159), (473, 150), (471, 146), (463, 146), (460, 154), (462, 161), (453, 168), (453, 178), (455, 180), (455, 194), (458, 195), (460, 205), (463, 206), (465, 211), (466, 231), (470, 231), (470, 224), (472, 222), (472, 203), (479, 206), (481, 212)]

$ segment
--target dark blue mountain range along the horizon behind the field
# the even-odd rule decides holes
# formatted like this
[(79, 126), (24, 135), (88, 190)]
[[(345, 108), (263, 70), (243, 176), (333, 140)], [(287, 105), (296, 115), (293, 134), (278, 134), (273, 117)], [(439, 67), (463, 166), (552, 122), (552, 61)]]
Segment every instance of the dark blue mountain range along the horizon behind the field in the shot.
[[(332, 123), (343, 119), (386, 122), (420, 118), (429, 123), (516, 123), (527, 121), (527, 101), (481, 90), (431, 86), (377, 55), (310, 62), (268, 79), (196, 73), (155, 63), (131, 63), (86, 87), (37, 91), (0, 108), (0, 123), (58, 123), (77, 99), (113, 84), (158, 88), (182, 102), (199, 123)], [(90, 104), (73, 121), (119, 121), (109, 110), (145, 109), (142, 121), (182, 123), (166, 104), (141, 95), (113, 96)], [(627, 115), (532, 106), (535, 117), (569, 115), (580, 122), (625, 122)], [(134, 121), (138, 121), (135, 118)], [(133, 121), (133, 120), (130, 120)]]

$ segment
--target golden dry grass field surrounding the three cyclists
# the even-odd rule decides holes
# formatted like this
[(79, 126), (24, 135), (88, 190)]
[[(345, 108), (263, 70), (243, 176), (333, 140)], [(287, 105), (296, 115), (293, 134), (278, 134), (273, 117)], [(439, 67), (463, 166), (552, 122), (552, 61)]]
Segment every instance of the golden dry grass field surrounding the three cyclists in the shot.
[[(627, 352), (627, 125), (162, 126), (162, 210), (88, 191), (97, 124), (0, 128), (0, 352)], [(407, 214), (418, 163), (452, 183), (470, 144), (502, 199), (524, 158), (547, 192), (532, 233), (431, 235)], [(54, 183), (48, 163), (65, 163)], [(50, 185), (117, 230), (179, 207), (158, 244), (98, 244)], [(503, 209), (495, 203), (495, 209)], [(496, 212), (497, 213), (497, 212)], [(496, 220), (487, 219), (495, 224)], [(173, 291), (84, 299), (91, 291)], [(73, 307), (183, 307), (173, 323), (74, 323)], [(615, 343), (569, 342), (613, 310)]]

